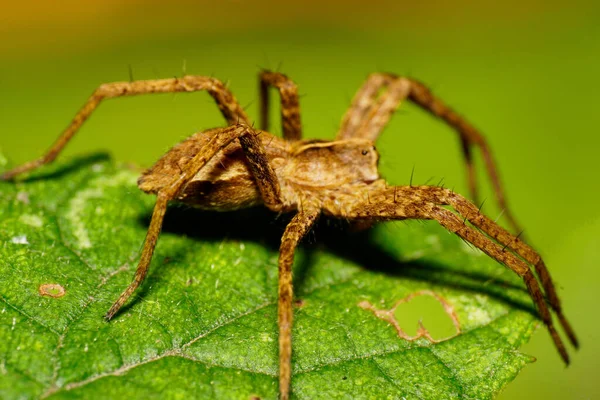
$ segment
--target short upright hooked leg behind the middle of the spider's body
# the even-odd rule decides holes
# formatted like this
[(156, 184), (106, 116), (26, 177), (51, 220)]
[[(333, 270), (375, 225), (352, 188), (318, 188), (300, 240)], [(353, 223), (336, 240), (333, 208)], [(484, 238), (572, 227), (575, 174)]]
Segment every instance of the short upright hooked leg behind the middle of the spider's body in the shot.
[(269, 86), (279, 90), (281, 97), (281, 124), (287, 140), (302, 139), (298, 87), (284, 74), (262, 71), (259, 75), (260, 129), (269, 130)]

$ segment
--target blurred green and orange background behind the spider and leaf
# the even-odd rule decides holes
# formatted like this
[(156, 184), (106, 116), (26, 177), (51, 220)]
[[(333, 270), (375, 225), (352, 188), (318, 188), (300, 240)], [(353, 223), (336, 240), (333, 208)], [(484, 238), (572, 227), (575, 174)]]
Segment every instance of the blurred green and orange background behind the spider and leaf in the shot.
[[(489, 140), (509, 202), (546, 258), (582, 342), (565, 369), (540, 329), (522, 349), (538, 361), (500, 398), (596, 398), (600, 5), (211, 3), (2, 4), (0, 149), (17, 163), (41, 155), (100, 83), (129, 80), (130, 69), (135, 79), (185, 69), (230, 81), (252, 116), (257, 72), (280, 70), (299, 84), (305, 135), (320, 138), (333, 138), (369, 72), (418, 78)], [(182, 138), (221, 124), (206, 94), (112, 100), (64, 155), (106, 149), (147, 167)], [(401, 108), (378, 148), (391, 183), (408, 183), (414, 165), (414, 182), (443, 177), (467, 193), (456, 135), (417, 108)], [(493, 201), (484, 211), (500, 213)]]

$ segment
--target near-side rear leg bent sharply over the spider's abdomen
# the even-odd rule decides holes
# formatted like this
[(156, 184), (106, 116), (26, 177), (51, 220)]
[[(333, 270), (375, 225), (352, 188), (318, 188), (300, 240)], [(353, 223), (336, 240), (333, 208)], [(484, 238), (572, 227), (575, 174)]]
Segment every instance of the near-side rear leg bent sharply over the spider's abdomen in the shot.
[[(275, 178), (275, 174), (269, 164), (263, 164), (263, 159), (266, 160), (264, 150), (258, 134), (255, 133), (247, 125), (234, 125), (226, 128), (218, 128), (214, 131), (213, 139), (208, 142), (201, 152), (196, 154), (183, 168), (181, 174), (173, 177), (170, 184), (167, 184), (157, 193), (156, 204), (152, 213), (150, 227), (144, 241), (142, 255), (135, 271), (135, 276), (131, 284), (121, 293), (117, 301), (110, 307), (105, 315), (107, 320), (110, 320), (125, 302), (131, 297), (133, 292), (144, 281), (150, 261), (156, 247), (156, 242), (160, 234), (163, 219), (170, 200), (177, 197), (180, 190), (206, 165), (206, 163), (221, 149), (227, 146), (235, 139), (239, 139), (242, 143), (242, 148), (251, 167), (251, 171), (257, 178), (257, 183), (263, 180), (262, 185), (259, 185), (259, 190), (265, 198), (265, 204), (271, 209), (277, 209), (278, 204), (281, 204), (279, 184)], [(260, 177), (260, 178), (259, 178)]]

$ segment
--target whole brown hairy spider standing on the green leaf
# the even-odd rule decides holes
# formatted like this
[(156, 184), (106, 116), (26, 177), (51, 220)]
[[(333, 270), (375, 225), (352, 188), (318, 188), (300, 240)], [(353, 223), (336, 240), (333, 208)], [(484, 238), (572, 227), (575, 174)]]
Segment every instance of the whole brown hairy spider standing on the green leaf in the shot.
[[(283, 139), (266, 132), (270, 86), (277, 88), (281, 95)], [(471, 150), (473, 146), (481, 150), (497, 202), (512, 227), (518, 230), (508, 212), (494, 161), (481, 134), (423, 84), (412, 79), (383, 73), (370, 75), (356, 94), (334, 141), (302, 140), (297, 87), (279, 73), (264, 71), (260, 74), (262, 131), (251, 127), (233, 95), (214, 78), (185, 76), (104, 84), (93, 93), (46, 155), (4, 173), (1, 178), (11, 179), (52, 162), (105, 98), (198, 90), (206, 90), (214, 98), (228, 126), (196, 133), (168, 151), (138, 180), (140, 189), (157, 195), (156, 205), (134, 280), (108, 310), (107, 320), (113, 318), (143, 282), (169, 201), (217, 211), (262, 204), (277, 213), (296, 212), (285, 229), (279, 253), (279, 390), (281, 399), (288, 399), (292, 264), (298, 243), (317, 218), (325, 214), (360, 226), (380, 220), (434, 219), (523, 278), (558, 352), (565, 363), (569, 362), (547, 303), (575, 347), (577, 338), (562, 313), (546, 265), (535, 250), (451, 190), (436, 186), (389, 187), (379, 177), (379, 156), (373, 143), (400, 103), (411, 100), (458, 132), (474, 199), (477, 185)]]

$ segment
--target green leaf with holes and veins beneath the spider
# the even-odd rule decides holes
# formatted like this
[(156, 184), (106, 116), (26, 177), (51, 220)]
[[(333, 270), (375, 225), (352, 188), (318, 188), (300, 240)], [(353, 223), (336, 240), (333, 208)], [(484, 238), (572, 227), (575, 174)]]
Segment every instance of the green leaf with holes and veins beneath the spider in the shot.
[[(0, 397), (277, 398), (284, 217), (174, 205), (147, 280), (104, 321), (154, 202), (136, 175), (100, 155), (0, 183)], [(324, 225), (294, 266), (295, 398), (492, 398), (533, 360), (517, 349), (537, 321), (511, 271), (434, 223)], [(421, 290), (454, 307), (458, 336), (405, 340), (359, 305)], [(411, 320), (411, 304), (395, 313), (408, 333), (419, 317), (450, 323), (443, 311)]]

